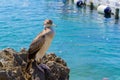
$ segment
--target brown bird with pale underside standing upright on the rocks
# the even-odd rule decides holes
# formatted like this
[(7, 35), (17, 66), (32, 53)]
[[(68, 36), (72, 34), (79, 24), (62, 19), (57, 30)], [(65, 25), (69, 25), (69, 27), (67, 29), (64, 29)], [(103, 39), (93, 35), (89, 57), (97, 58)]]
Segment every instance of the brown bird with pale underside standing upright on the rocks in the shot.
[(54, 24), (50, 19), (44, 21), (44, 29), (35, 37), (28, 49), (26, 71), (29, 71), (32, 62), (41, 63), (43, 56), (50, 47), (54, 38)]

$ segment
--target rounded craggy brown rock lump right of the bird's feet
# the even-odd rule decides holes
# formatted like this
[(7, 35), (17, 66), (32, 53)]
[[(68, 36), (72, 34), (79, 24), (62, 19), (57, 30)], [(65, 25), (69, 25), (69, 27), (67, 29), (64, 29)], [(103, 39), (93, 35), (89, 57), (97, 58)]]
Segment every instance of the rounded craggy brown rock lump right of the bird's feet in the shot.
[(43, 63), (50, 68), (49, 80), (69, 80), (70, 70), (66, 62), (54, 53), (44, 56)]

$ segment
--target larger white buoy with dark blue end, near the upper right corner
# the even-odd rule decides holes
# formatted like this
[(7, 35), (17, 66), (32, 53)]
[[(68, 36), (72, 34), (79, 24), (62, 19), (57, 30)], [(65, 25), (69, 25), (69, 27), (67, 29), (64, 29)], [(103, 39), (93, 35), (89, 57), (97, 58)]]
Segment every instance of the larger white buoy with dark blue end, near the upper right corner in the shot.
[(110, 18), (111, 17), (111, 8), (106, 5), (99, 5), (97, 8), (98, 13), (104, 14), (105, 18)]

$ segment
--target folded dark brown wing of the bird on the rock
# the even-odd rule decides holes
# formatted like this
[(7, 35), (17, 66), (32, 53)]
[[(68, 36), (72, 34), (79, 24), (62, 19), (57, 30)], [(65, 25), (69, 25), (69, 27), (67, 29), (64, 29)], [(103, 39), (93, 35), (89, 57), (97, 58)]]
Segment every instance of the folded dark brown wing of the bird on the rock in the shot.
[(41, 49), (43, 44), (45, 43), (45, 34), (40, 33), (30, 44), (28, 49), (28, 58), (34, 58), (36, 53)]

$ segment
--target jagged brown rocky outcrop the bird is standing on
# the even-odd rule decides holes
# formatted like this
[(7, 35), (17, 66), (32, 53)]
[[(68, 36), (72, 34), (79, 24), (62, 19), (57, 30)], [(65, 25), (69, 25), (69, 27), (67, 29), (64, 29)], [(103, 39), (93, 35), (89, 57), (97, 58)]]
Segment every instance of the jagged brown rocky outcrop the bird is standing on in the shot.
[(0, 80), (69, 80), (66, 62), (54, 53), (46, 54), (42, 64), (32, 63), (30, 72), (25, 72), (27, 50), (16, 52), (11, 48), (0, 51)]

